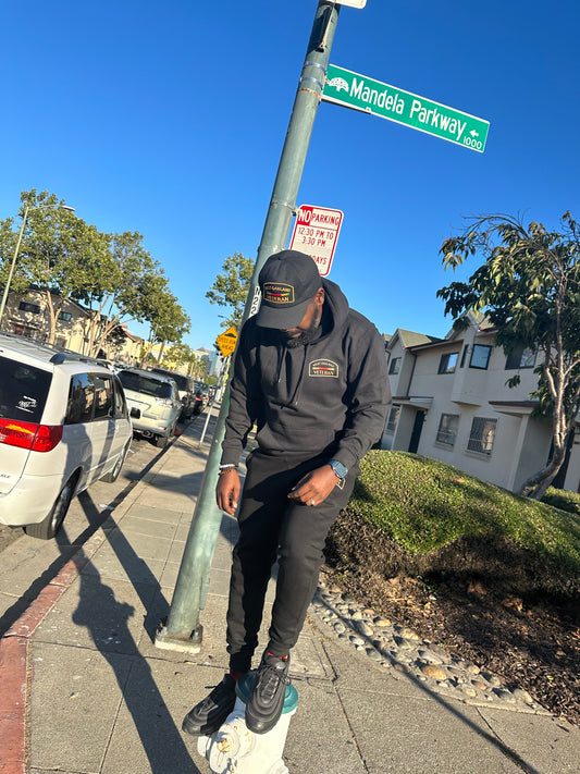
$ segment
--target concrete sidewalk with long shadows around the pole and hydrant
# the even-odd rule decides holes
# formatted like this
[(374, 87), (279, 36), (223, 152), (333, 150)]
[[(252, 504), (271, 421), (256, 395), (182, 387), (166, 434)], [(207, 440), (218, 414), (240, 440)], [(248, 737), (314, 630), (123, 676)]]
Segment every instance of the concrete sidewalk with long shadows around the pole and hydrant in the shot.
[[(234, 519), (224, 516), (221, 525), (201, 652), (153, 644), (209, 451), (208, 437), (199, 447), (201, 429), (195, 423), (177, 439), (2, 638), (0, 774), (210, 773), (181, 723), (227, 665)], [(266, 629), (269, 607), (264, 617)], [(291, 674), (299, 697), (285, 747), (292, 774), (572, 774), (580, 767), (580, 728), (519, 704), (442, 697), (354, 652), (313, 609)]]

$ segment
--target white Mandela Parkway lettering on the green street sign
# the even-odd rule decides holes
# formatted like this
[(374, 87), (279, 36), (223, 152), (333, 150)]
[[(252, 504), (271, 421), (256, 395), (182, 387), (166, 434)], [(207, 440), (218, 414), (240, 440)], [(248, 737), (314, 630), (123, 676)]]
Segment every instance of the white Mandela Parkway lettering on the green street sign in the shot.
[[(356, 77), (353, 77), (353, 83), (350, 84), (350, 97), (365, 102), (368, 107), (363, 108), (363, 110), (370, 111), (372, 107), (377, 107), (382, 109), (384, 113), (408, 116), (409, 123), (418, 128), (424, 126), (427, 132), (439, 130), (441, 133), (451, 135), (455, 142), (462, 143), (462, 145), (477, 150), (481, 150), (483, 147), (483, 143), (480, 139), (470, 137), (469, 134), (464, 134), (467, 121), (461, 121), (458, 118), (441, 112), (431, 101), (425, 100), (429, 107), (424, 107), (420, 98), (412, 97), (409, 109), (406, 99), (410, 99), (409, 95), (404, 97), (398, 91), (390, 94), (388, 88), (383, 90), (370, 88), (365, 84), (363, 79), (359, 81)], [(340, 99), (340, 97), (336, 99)], [(387, 118), (393, 121), (397, 120), (394, 115), (388, 115)], [(442, 134), (442, 136), (444, 135)]]

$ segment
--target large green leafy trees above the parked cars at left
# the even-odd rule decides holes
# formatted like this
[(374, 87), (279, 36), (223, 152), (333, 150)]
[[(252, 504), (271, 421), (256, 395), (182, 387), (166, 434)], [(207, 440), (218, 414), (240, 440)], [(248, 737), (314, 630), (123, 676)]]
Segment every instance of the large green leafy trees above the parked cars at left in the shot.
[[(64, 298), (84, 304), (92, 312), (88, 322), (88, 354), (111, 340), (120, 324), (149, 322), (156, 341), (181, 341), (190, 329), (189, 317), (169, 291), (163, 269), (143, 244), (137, 232), (106, 234), (87, 224), (54, 194), (36, 189), (21, 195), (21, 217), (28, 207), (11, 290), (24, 292), (30, 284), (46, 293), (49, 341)], [(16, 243), (13, 219), (0, 221), (0, 282)], [(53, 295), (54, 294), (54, 295)], [(57, 303), (54, 303), (57, 299)]]

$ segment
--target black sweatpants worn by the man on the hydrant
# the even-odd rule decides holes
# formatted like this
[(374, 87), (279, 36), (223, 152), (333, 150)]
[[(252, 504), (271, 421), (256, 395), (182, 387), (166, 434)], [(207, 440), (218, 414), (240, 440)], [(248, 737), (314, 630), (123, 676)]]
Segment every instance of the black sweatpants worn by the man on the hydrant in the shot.
[(235, 672), (247, 672), (251, 666), (266, 590), (276, 558), (279, 573), (268, 649), (275, 655), (286, 655), (296, 644), (317, 588), (326, 535), (348, 502), (358, 467), (349, 470), (344, 483), (338, 483), (318, 505), (301, 505), (287, 495), (303, 476), (328, 460), (328, 454), (304, 459), (259, 451), (246, 460), (227, 609), (227, 652), (230, 667)]

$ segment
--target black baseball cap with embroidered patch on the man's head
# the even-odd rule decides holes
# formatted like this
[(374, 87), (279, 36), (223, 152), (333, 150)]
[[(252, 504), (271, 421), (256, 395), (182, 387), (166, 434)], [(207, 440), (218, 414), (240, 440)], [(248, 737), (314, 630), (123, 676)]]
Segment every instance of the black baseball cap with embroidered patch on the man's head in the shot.
[(263, 265), (258, 278), (262, 302), (256, 322), (262, 328), (296, 328), (322, 287), (316, 261), (306, 253), (282, 250)]

